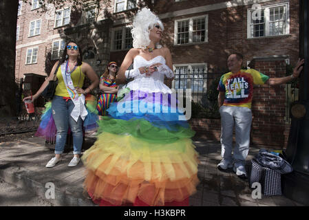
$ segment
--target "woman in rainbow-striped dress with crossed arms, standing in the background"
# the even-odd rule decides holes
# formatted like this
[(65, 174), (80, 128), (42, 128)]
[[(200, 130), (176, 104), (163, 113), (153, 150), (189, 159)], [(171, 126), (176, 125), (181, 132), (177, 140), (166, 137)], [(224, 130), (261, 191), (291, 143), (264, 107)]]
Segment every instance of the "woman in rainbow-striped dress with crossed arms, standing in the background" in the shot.
[(100, 116), (107, 115), (106, 109), (109, 108), (109, 104), (111, 104), (111, 102), (116, 102), (117, 100), (118, 85), (116, 85), (115, 82), (117, 69), (117, 63), (110, 62), (107, 65), (104, 74), (100, 77), (99, 87), (102, 94), (100, 95), (96, 106), (96, 110), (98, 110), (98, 115)]

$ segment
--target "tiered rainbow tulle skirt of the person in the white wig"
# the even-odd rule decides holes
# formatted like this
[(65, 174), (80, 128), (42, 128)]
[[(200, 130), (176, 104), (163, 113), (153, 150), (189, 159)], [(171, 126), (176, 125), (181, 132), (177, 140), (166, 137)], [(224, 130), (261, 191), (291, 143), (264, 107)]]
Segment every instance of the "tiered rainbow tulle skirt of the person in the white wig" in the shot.
[[(188, 206), (198, 184), (195, 132), (173, 94), (129, 91), (98, 122), (81, 157), (84, 188), (100, 206)], [(174, 104), (172, 104), (174, 103)]]

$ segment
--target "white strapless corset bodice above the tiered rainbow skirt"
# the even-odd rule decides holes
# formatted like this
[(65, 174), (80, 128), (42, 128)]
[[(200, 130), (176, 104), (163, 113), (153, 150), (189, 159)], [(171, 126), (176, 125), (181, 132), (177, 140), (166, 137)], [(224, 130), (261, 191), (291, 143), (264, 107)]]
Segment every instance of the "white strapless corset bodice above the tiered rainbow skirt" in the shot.
[[(146, 67), (155, 63), (165, 64), (163, 56), (159, 55), (152, 58), (150, 61), (145, 60), (142, 56), (138, 55), (134, 58), (134, 69), (140, 67)], [(140, 90), (145, 92), (162, 92), (164, 94), (171, 94), (172, 91), (164, 84), (164, 74), (160, 72), (153, 72), (151, 76), (140, 74), (134, 78), (133, 81), (127, 84), (127, 87), (131, 90)]]

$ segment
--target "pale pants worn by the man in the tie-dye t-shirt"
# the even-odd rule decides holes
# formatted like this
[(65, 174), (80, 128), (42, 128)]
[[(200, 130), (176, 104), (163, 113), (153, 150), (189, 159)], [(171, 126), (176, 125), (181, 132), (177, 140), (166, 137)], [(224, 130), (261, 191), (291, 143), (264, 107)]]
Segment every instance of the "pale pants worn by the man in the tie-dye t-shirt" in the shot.
[[(249, 153), (250, 130), (252, 122), (251, 109), (247, 107), (220, 107), (221, 115), (221, 156), (234, 159), (235, 163), (244, 163)], [(235, 125), (235, 149), (233, 150), (233, 128)]]

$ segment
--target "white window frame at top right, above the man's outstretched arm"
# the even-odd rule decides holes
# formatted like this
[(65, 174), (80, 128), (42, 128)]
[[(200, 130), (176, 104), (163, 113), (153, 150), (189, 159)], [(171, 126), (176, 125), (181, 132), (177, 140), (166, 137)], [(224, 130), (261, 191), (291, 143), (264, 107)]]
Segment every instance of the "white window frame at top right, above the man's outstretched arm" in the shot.
[[(270, 35), (269, 31), (269, 23), (270, 23), (270, 8), (277, 8), (280, 6), (284, 6), (286, 8), (286, 30), (285, 34), (279, 34), (279, 35)], [(264, 17), (265, 17), (265, 32), (264, 36), (251, 36), (251, 14), (254, 12), (255, 9), (248, 8), (247, 10), (247, 39), (259, 39), (259, 38), (265, 38), (265, 37), (273, 37), (273, 36), (285, 36), (290, 34), (290, 4), (288, 2), (286, 3), (278, 3), (274, 5), (265, 5), (260, 8), (261, 10), (264, 10)]]

